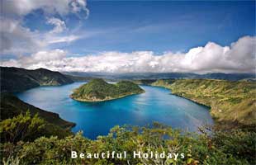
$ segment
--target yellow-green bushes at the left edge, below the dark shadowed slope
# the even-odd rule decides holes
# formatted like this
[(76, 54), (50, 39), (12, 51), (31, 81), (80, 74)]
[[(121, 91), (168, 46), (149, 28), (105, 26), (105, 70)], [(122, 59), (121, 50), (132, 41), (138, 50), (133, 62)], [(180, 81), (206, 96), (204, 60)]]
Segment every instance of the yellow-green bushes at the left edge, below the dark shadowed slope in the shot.
[(40, 136), (55, 135), (64, 138), (71, 133), (56, 125), (40, 119), (38, 115), (31, 116), (30, 112), (20, 114), (12, 119), (0, 122), (1, 142), (17, 143), (18, 141), (33, 141)]

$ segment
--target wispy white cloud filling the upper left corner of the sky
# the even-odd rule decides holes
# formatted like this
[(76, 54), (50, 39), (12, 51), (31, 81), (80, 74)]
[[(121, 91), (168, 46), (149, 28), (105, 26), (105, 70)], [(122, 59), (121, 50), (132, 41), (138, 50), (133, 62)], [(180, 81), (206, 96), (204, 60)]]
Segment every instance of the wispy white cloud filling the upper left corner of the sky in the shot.
[[(31, 31), (23, 24), (23, 18), (31, 12), (42, 10), (46, 24), (53, 27), (47, 32)], [(78, 36), (65, 33), (67, 30), (64, 18), (68, 14), (75, 14), (86, 19), (89, 11), (86, 0), (7, 0), (1, 1), (0, 16), (0, 55), (2, 54), (31, 54), (56, 43), (78, 40)], [(66, 31), (65, 31), (66, 32)]]

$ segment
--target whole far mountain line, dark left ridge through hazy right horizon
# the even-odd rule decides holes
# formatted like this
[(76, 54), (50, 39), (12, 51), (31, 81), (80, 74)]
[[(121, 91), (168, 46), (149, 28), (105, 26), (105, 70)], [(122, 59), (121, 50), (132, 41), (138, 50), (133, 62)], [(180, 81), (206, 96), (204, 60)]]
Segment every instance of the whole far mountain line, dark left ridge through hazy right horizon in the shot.
[(254, 73), (59, 73), (45, 68), (28, 70), (25, 68), (0, 67), (1, 92), (22, 92), (39, 86), (64, 85), (92, 78), (109, 80), (138, 79), (224, 79), (230, 81), (255, 80)]

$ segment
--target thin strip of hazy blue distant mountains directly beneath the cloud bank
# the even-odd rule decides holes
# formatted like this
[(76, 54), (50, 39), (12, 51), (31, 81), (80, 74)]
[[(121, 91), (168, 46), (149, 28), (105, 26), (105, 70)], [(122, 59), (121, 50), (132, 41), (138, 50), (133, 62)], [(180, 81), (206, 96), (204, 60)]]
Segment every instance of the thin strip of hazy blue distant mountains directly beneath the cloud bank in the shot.
[(64, 72), (66, 75), (73, 75), (86, 78), (104, 78), (104, 79), (223, 79), (238, 81), (242, 79), (255, 79), (254, 73), (79, 73)]

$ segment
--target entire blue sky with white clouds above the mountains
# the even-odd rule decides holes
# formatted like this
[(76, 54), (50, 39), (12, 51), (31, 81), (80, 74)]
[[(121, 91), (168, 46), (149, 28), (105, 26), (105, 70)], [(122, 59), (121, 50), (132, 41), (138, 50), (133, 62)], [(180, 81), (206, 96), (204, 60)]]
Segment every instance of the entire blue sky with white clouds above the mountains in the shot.
[(255, 1), (0, 0), (1, 66), (252, 73)]

